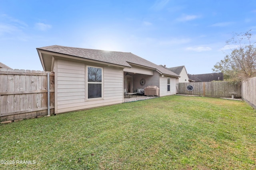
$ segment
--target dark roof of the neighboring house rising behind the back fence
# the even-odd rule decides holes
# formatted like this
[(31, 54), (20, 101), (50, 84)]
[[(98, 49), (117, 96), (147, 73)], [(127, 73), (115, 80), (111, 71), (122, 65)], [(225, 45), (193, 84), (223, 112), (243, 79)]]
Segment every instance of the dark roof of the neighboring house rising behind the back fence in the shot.
[(223, 81), (223, 73), (209, 73), (209, 74), (188, 74), (190, 82), (212, 82)]

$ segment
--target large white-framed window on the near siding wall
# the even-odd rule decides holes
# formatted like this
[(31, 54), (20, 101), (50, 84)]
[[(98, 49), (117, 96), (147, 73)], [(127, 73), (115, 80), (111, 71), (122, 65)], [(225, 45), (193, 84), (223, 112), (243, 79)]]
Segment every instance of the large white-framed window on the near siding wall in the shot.
[(88, 99), (102, 97), (102, 68), (87, 67)]

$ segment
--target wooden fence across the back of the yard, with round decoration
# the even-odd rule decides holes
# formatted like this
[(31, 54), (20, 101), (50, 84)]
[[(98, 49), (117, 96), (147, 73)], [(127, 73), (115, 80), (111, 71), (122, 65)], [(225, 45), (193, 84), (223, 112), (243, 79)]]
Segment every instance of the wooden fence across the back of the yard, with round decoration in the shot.
[[(192, 85), (194, 90), (191, 92), (186, 89), (188, 85)], [(241, 97), (241, 86), (231, 84), (230, 82), (186, 82), (179, 83), (179, 94), (195, 95), (195, 96), (209, 96), (218, 98), (230, 98), (231, 94), (235, 92), (235, 98)]]

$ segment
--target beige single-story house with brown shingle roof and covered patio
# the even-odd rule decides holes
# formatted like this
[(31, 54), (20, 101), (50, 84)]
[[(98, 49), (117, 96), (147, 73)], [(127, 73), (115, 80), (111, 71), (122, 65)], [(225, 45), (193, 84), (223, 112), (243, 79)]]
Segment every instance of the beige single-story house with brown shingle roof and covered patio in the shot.
[(125, 88), (158, 86), (159, 96), (176, 94), (178, 74), (132, 53), (58, 45), (37, 51), (43, 69), (55, 72), (55, 113), (120, 104)]

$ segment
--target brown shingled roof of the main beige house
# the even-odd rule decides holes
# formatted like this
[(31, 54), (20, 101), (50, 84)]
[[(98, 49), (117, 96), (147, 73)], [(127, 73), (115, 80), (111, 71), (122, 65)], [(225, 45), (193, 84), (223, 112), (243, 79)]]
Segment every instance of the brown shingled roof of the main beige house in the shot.
[[(57, 54), (64, 54), (73, 57), (79, 57), (82, 59), (89, 59), (92, 61), (100, 61), (104, 63), (116, 64), (122, 67), (132, 67), (131, 64), (137, 64), (140, 66), (146, 66), (148, 68), (156, 69), (161, 74), (167, 74), (170, 76), (177, 76), (174, 72), (167, 70), (166, 68), (162, 68), (150, 61), (147, 61), (137, 55), (127, 52), (118, 52), (118, 51), (105, 51), (105, 50), (97, 50), (97, 49), (84, 49), (84, 48), (76, 48), (76, 47), (65, 47), (59, 45), (52, 45), (47, 47), (36, 48), (38, 51), (38, 55), (40, 57), (41, 63), (43, 64), (43, 59), (41, 53), (44, 51), (53, 52)], [(44, 67), (44, 66), (43, 66)], [(44, 68), (45, 69), (45, 68)]]

